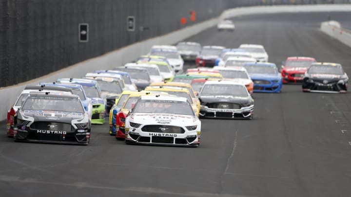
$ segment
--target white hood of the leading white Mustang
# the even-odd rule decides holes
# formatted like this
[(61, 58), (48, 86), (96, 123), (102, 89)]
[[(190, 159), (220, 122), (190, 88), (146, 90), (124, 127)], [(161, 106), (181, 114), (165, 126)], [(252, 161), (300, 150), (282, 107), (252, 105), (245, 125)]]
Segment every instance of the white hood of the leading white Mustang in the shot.
[(128, 116), (129, 121), (137, 124), (153, 124), (153, 125), (196, 125), (195, 121), (199, 121), (196, 116), (178, 115), (167, 113), (132, 113)]

